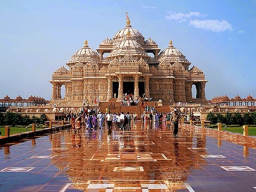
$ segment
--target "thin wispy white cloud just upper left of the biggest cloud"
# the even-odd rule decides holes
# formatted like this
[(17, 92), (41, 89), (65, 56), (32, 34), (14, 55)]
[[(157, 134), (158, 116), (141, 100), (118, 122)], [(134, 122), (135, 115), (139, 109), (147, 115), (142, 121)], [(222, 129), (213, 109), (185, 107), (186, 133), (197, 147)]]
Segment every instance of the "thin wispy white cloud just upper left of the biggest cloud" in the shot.
[(189, 12), (189, 13), (176, 13), (173, 11), (169, 11), (168, 15), (165, 16), (166, 19), (168, 20), (175, 20), (176, 22), (185, 22), (188, 18), (190, 17), (204, 17), (207, 16), (205, 14), (199, 13), (199, 12)]

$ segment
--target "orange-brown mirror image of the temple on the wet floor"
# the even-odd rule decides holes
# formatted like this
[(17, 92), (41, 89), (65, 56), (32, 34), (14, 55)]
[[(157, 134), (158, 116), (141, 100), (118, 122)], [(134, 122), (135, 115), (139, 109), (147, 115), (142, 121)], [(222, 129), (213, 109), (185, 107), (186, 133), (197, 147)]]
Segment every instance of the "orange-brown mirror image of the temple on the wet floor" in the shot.
[(51, 161), (83, 191), (185, 189), (189, 173), (205, 164), (200, 155), (206, 155), (206, 137), (185, 130), (182, 135), (172, 139), (168, 130), (111, 136), (101, 130), (62, 132), (52, 135)]

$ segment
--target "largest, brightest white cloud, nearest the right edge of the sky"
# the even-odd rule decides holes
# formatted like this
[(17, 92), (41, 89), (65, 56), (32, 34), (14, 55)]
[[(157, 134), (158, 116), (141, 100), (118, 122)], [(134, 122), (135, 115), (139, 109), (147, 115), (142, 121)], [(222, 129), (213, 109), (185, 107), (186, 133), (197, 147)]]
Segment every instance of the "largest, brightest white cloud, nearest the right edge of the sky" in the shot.
[(233, 31), (232, 25), (226, 20), (190, 20), (189, 25), (212, 32)]

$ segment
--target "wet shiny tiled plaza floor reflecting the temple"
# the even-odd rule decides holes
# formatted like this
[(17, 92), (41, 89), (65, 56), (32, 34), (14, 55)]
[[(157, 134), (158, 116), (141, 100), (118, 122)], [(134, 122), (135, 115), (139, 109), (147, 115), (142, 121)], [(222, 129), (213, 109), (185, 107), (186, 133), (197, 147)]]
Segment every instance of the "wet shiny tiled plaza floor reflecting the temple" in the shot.
[(0, 191), (255, 191), (256, 149), (165, 124), (0, 145)]

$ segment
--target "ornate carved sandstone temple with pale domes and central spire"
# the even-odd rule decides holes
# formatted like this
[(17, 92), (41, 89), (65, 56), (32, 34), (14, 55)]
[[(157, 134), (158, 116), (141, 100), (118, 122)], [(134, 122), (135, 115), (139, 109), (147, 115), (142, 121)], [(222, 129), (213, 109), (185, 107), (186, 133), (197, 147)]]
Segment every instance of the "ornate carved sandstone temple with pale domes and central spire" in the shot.
[[(194, 102), (206, 103), (204, 73), (193, 66), (174, 47), (160, 52), (156, 42), (132, 28), (129, 17), (126, 26), (112, 39), (101, 42), (97, 52), (84, 46), (75, 52), (64, 66), (52, 74), (52, 103), (81, 103), (82, 100), (99, 99), (108, 101), (116, 94), (117, 101), (124, 93), (135, 97), (153, 97), (163, 103)], [(65, 96), (61, 97), (61, 87)], [(196, 98), (192, 87), (196, 88)]]

